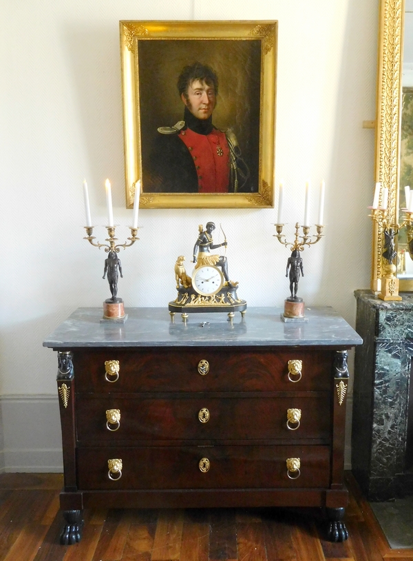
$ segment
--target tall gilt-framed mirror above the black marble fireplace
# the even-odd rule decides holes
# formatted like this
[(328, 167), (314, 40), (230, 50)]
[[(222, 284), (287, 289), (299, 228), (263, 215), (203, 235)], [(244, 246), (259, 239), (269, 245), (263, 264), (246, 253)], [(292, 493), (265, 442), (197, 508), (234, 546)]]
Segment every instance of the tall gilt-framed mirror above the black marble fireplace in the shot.
[[(403, 223), (409, 190), (413, 196), (413, 0), (381, 0), (375, 176), (388, 187), (389, 223)], [(374, 223), (374, 292), (381, 289), (382, 254), (383, 230)], [(397, 236), (396, 266), (399, 290), (412, 292), (413, 241), (405, 227)]]

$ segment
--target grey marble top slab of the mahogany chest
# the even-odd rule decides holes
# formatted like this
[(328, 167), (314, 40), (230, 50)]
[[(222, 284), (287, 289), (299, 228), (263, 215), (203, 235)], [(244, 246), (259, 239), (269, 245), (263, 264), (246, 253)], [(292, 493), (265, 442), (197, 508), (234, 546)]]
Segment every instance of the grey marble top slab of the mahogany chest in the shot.
[(101, 308), (78, 308), (43, 342), (44, 347), (222, 347), (361, 345), (361, 337), (331, 307), (306, 309), (308, 322), (284, 323), (282, 310), (250, 307), (233, 325), (225, 313), (189, 314), (187, 324), (167, 308), (129, 308), (125, 324), (100, 323)]

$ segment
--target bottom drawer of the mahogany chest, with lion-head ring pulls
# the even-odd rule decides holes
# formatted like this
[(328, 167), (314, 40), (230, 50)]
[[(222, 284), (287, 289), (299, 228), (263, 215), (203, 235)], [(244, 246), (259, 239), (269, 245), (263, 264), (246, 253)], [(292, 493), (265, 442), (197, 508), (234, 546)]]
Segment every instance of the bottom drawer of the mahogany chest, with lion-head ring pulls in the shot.
[[(290, 473), (295, 479), (287, 458), (299, 458), (299, 472)], [(109, 478), (113, 459), (122, 462), (120, 478), (111, 473), (116, 480)], [(320, 446), (78, 449), (78, 485), (85, 490), (327, 487), (329, 478), (330, 453)]]

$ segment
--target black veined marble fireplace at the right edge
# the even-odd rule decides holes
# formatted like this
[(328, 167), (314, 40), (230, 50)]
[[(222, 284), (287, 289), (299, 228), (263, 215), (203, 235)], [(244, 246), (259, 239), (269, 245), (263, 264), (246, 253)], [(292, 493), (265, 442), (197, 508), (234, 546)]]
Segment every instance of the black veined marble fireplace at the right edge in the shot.
[(352, 471), (368, 500), (413, 494), (413, 294), (383, 302), (355, 291)]

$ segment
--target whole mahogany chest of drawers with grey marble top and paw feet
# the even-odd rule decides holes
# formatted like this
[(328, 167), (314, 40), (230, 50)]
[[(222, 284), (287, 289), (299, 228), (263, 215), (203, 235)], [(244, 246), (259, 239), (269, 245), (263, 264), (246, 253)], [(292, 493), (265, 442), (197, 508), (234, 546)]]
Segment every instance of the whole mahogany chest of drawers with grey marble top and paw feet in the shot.
[(331, 308), (307, 323), (250, 308), (171, 322), (129, 309), (125, 325), (78, 309), (58, 351), (65, 487), (62, 543), (87, 507), (324, 507), (342, 517), (347, 350), (361, 338)]

